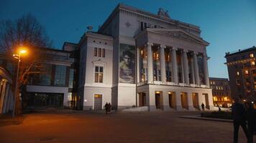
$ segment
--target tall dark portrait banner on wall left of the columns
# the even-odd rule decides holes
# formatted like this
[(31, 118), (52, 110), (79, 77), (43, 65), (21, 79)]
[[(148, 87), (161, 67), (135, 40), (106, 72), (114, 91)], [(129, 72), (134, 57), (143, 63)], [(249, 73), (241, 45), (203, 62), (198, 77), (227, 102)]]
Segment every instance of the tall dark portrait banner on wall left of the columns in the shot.
[(119, 82), (135, 83), (135, 46), (128, 44), (119, 46)]

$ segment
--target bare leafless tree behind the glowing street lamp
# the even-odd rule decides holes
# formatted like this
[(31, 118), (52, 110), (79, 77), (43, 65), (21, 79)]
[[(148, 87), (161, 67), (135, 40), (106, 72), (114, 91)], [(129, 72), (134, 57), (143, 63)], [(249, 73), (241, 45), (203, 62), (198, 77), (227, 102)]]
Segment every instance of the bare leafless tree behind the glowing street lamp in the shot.
[[(42, 47), (50, 47), (52, 41), (47, 36), (44, 27), (39, 21), (31, 14), (25, 14), (17, 20), (2, 20), (0, 21), (0, 52), (8, 56), (17, 53), (19, 46), (27, 46), (29, 48), (28, 56), (22, 57), (19, 67), (19, 80), (18, 80), (18, 92), (24, 92), (27, 84), (27, 79), (31, 74), (40, 74), (47, 72), (43, 68), (43, 61), (47, 59), (47, 53), (41, 50)], [(38, 48), (40, 47), (40, 48)], [(14, 65), (17, 64), (17, 60), (13, 61)], [(17, 68), (17, 66), (15, 66)], [(14, 72), (15, 73), (15, 72)], [(16, 79), (16, 74), (13, 74), (13, 79)], [(14, 80), (13, 83), (16, 81)], [(13, 90), (14, 90), (13, 86)], [(14, 93), (14, 95), (19, 95)], [(21, 104), (19, 97), (15, 96), (16, 113), (21, 113)]]

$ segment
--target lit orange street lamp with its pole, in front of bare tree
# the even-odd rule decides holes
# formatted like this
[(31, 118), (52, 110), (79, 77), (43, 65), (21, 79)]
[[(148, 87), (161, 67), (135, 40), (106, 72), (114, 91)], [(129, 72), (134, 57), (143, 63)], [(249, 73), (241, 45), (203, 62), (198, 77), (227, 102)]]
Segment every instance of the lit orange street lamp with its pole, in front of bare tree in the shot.
[(12, 109), (12, 117), (15, 117), (15, 108), (16, 108), (16, 98), (19, 94), (17, 94), (18, 89), (18, 80), (19, 80), (19, 62), (20, 62), (20, 55), (27, 53), (26, 48), (20, 47), (19, 48), (19, 54), (13, 54), (15, 59), (18, 59), (18, 67), (17, 67), (17, 77), (16, 77), (16, 85), (15, 85), (15, 91), (14, 91), (14, 108)]

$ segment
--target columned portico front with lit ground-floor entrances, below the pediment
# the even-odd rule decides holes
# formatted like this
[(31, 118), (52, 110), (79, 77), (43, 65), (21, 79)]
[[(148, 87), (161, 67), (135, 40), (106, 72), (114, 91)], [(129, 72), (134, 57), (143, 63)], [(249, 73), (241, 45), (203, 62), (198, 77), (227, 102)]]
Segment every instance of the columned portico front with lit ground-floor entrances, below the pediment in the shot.
[[(137, 94), (143, 94), (145, 101), (140, 101), (143, 99), (140, 97), (139, 102), (145, 103), (143, 106), (148, 106), (150, 111), (201, 110), (201, 104), (206, 109), (214, 109), (205, 49), (176, 44), (176, 39), (168, 35), (163, 37), (169, 39), (166, 41), (157, 41), (152, 36), (156, 35), (149, 32), (143, 37), (147, 39), (147, 44), (140, 44), (142, 41), (137, 37), (137, 53), (143, 56), (143, 50), (147, 49), (147, 67), (143, 67), (147, 69), (147, 82), (140, 80), (140, 84), (137, 84)], [(137, 58), (137, 62), (145, 65), (142, 57)], [(145, 70), (137, 68), (140, 68), (137, 70), (140, 72), (139, 79), (143, 79), (142, 71)]]

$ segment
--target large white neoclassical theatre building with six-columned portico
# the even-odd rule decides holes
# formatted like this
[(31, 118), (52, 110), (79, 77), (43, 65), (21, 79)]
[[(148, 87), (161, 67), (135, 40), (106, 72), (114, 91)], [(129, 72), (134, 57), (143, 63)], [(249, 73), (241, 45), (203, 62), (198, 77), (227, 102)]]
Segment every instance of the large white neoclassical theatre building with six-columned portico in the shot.
[(198, 26), (119, 4), (80, 49), (78, 94), (83, 109), (148, 107), (212, 109), (206, 54)]

